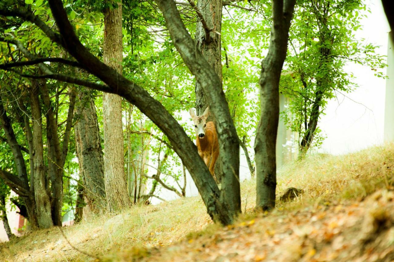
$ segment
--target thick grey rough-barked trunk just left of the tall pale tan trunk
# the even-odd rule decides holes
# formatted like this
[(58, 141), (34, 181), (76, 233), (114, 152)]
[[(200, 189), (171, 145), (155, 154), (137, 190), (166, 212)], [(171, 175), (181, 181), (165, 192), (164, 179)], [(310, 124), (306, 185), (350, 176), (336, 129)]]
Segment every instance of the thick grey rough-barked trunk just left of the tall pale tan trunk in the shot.
[[(81, 183), (88, 205), (95, 213), (106, 208), (104, 187), (104, 159), (100, 143), (96, 107), (89, 92), (78, 94), (75, 107), (75, 145)], [(83, 198), (82, 198), (83, 200)]]

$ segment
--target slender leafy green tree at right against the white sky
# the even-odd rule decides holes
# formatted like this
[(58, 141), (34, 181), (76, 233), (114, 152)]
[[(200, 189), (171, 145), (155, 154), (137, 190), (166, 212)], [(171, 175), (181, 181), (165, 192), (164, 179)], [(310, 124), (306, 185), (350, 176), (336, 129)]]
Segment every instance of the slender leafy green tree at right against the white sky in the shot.
[[(375, 54), (376, 46), (355, 39), (362, 9), (366, 6), (360, 0), (298, 3), (290, 30), (289, 73), (281, 91), (292, 99), (288, 109), (292, 114), (284, 114), (284, 118), (299, 133), (300, 157), (312, 142), (321, 144), (318, 120), (327, 101), (357, 87), (344, 66), (354, 62), (370, 66), (374, 72), (385, 66), (383, 56)], [(380, 71), (375, 75), (383, 77)]]

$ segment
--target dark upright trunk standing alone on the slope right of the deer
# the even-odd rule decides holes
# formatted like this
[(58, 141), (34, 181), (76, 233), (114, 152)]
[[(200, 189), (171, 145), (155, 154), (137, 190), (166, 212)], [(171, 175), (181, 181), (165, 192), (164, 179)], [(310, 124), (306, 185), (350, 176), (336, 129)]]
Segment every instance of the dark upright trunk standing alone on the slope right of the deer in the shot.
[(279, 79), (287, 53), (288, 32), (296, 0), (273, 0), (273, 26), (267, 57), (261, 63), (260, 121), (255, 139), (256, 209), (275, 207), (276, 137), (279, 122)]

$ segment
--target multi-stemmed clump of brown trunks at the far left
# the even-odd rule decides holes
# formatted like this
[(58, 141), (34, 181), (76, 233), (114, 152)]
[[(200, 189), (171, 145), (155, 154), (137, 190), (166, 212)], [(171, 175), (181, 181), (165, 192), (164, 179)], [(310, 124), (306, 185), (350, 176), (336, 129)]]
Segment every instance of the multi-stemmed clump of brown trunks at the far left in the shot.
[[(4, 38), (2, 38), (4, 41)], [(22, 43), (16, 39), (9, 39), (13, 45), (17, 46), (29, 60), (34, 60), (35, 57), (26, 49)], [(12, 49), (8, 55), (12, 56)], [(15, 60), (11, 58), (10, 60)], [(23, 62), (22, 62), (23, 64)], [(52, 73), (48, 67), (39, 62), (40, 71), (35, 69), (37, 75), (42, 72)], [(5, 66), (6, 67), (6, 66)], [(7, 67), (6, 67), (7, 69)], [(12, 71), (12, 74), (15, 73)], [(11, 79), (11, 80), (9, 80)], [(9, 80), (9, 81), (8, 81)], [(58, 125), (58, 111), (59, 105), (52, 105), (48, 87), (45, 81), (33, 80), (32, 82), (19, 81), (18, 99), (15, 99), (14, 93), (6, 92), (8, 109), (14, 111), (15, 122), (24, 130), (24, 140), (28, 141), (26, 146), (18, 143), (17, 135), (11, 125), (11, 118), (7, 115), (7, 110), (2, 102), (2, 127), (6, 133), (6, 142), (10, 146), (11, 151), (17, 165), (15, 172), (18, 176), (6, 170), (0, 170), (0, 176), (4, 182), (11, 187), (20, 197), (23, 198), (23, 203), (26, 205), (27, 218), (32, 228), (48, 228), (52, 225), (61, 225), (61, 211), (63, 206), (63, 167), (68, 153), (69, 138), (71, 133), (73, 109), (75, 103), (75, 93), (72, 88), (69, 88), (69, 107), (65, 121)], [(6, 88), (4, 90), (11, 90), (11, 86), (16, 84), (12, 77), (3, 82)], [(66, 87), (65, 87), (66, 88)], [(64, 89), (63, 89), (64, 90)], [(29, 97), (27, 97), (27, 95)], [(54, 97), (56, 101), (60, 92), (56, 92)], [(41, 99), (40, 99), (41, 98)], [(30, 107), (26, 108), (25, 101), (30, 101)], [(43, 101), (41, 103), (41, 101)], [(56, 114), (55, 114), (56, 112)], [(31, 114), (31, 117), (29, 116)], [(44, 140), (43, 140), (43, 118), (46, 119), (46, 151), (44, 159)], [(30, 127), (30, 119), (32, 119), (32, 129)], [(62, 133), (62, 140), (58, 136), (58, 127), (64, 127)], [(30, 160), (30, 185), (28, 180), (28, 172), (24, 163), (22, 149), (29, 154)], [(17, 178), (17, 180), (16, 180)]]

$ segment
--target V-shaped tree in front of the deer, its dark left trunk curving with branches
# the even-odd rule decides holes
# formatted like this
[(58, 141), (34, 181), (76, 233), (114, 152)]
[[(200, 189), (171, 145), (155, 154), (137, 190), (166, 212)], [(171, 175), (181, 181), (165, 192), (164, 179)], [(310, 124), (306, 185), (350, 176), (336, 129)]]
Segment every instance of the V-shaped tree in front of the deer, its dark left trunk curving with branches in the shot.
[[(217, 75), (212, 69), (210, 69), (206, 60), (201, 55), (201, 52), (197, 52), (197, 58), (195, 58), (195, 45), (180, 20), (175, 4), (171, 2), (160, 2), (159, 4), (162, 4), (165, 13), (167, 13), (165, 15), (167, 22), (173, 23), (173, 26), (175, 26), (175, 28), (173, 27), (172, 29), (178, 29), (182, 32), (183, 36), (186, 36), (184, 39), (181, 39), (184, 41), (179, 42), (178, 49), (186, 51), (181, 52), (186, 55), (183, 59), (186, 60), (186, 64), (188, 64), (191, 71), (197, 75), (197, 80), (200, 81), (200, 84), (202, 84), (204, 90), (206, 90), (205, 93), (209, 94), (210, 100), (208, 103), (212, 105), (211, 110), (217, 120), (219, 142), (222, 140), (222, 152), (235, 152), (238, 146), (234, 148), (234, 145), (238, 141), (238, 138), (236, 137), (234, 125), (232, 124), (225, 96), (221, 90), (221, 84)], [(135, 82), (125, 79), (116, 70), (100, 62), (84, 47), (84, 45), (81, 44), (67, 18), (67, 13), (65, 12), (61, 1), (50, 0), (49, 6), (58, 26), (58, 32), (54, 32), (39, 18), (39, 16), (34, 15), (23, 7), (15, 8), (13, 5), (7, 5), (7, 7), (4, 7), (3, 5), (0, 8), (0, 15), (3, 17), (20, 17), (20, 19), (24, 19), (25, 21), (33, 22), (42, 30), (42, 32), (45, 33), (46, 37), (48, 37), (50, 41), (62, 46), (76, 59), (76, 62), (72, 60), (63, 61), (65, 64), (82, 67), (87, 72), (98, 77), (105, 84), (99, 84), (97, 82), (71, 77), (61, 73), (47, 73), (41, 77), (80, 84), (100, 91), (117, 93), (136, 105), (141, 112), (148, 116), (167, 135), (175, 152), (182, 158), (184, 165), (190, 171), (193, 180), (201, 193), (204, 203), (207, 206), (208, 213), (214, 221), (219, 221), (225, 225), (232, 223), (234, 216), (240, 212), (240, 199), (235, 199), (235, 201), (231, 200), (233, 197), (233, 195), (231, 195), (231, 190), (234, 188), (236, 189), (237, 185), (233, 184), (228, 185), (227, 187), (223, 185), (223, 189), (219, 191), (214, 179), (208, 172), (208, 169), (199, 158), (193, 142), (191, 142), (190, 138), (186, 135), (173, 116), (165, 110), (159, 101), (153, 99), (143, 88), (141, 88), (141, 86)], [(171, 14), (176, 15), (175, 20), (171, 19)], [(172, 20), (172, 22), (169, 20)], [(10, 41), (9, 39), (4, 40)], [(177, 43), (177, 41), (174, 42)], [(193, 54), (194, 58), (192, 58), (192, 60), (190, 60), (190, 54)], [(34, 61), (30, 63), (34, 63)], [(19, 64), (13, 63), (11, 65), (8, 64), (8, 66), (15, 67), (19, 66)], [(32, 75), (32, 77), (35, 76)], [(215, 88), (212, 88), (212, 86)], [(224, 165), (223, 171), (238, 176), (238, 168), (239, 162), (237, 159), (230, 159), (230, 161)]]

